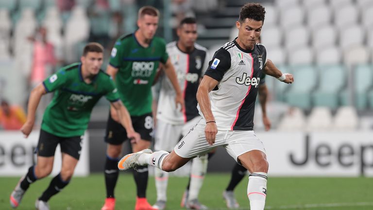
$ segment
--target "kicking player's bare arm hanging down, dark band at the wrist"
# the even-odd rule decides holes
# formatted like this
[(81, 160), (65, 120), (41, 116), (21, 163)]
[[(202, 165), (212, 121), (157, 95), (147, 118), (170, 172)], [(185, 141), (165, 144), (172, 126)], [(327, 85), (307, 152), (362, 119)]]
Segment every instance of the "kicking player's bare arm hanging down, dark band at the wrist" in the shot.
[(203, 117), (206, 120), (204, 130), (207, 142), (212, 145), (215, 143), (215, 137), (218, 133), (218, 127), (215, 123), (215, 117), (211, 111), (210, 98), (208, 93), (218, 85), (218, 81), (207, 75), (203, 76), (200, 86), (197, 90), (197, 101), (200, 105)]

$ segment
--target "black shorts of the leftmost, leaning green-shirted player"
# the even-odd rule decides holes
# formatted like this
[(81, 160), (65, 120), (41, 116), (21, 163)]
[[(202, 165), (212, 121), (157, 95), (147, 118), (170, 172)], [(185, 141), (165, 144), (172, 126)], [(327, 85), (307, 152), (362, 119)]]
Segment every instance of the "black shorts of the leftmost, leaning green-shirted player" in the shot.
[(66, 153), (79, 160), (82, 151), (82, 140), (83, 136), (58, 137), (44, 130), (40, 130), (36, 153), (38, 156), (42, 157), (53, 157), (59, 143), (62, 153)]

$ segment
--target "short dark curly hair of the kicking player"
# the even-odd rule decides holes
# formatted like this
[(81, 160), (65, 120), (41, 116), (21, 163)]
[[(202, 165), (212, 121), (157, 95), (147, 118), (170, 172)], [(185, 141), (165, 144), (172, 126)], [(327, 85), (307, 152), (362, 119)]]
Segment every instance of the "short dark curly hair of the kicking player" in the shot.
[(245, 22), (246, 18), (254, 19), (256, 21), (263, 21), (266, 14), (264, 7), (258, 3), (246, 3), (241, 7), (238, 21)]

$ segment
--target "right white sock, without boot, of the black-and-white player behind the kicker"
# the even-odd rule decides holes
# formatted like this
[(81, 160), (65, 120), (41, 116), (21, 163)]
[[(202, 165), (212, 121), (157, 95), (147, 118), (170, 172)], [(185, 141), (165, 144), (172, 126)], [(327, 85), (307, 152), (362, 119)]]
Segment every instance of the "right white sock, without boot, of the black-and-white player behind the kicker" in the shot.
[(190, 186), (189, 186), (189, 196), (188, 200), (194, 200), (198, 198), (200, 193), (204, 175), (207, 172), (207, 159), (208, 155), (202, 157), (195, 157), (192, 160), (192, 167), (190, 171)]

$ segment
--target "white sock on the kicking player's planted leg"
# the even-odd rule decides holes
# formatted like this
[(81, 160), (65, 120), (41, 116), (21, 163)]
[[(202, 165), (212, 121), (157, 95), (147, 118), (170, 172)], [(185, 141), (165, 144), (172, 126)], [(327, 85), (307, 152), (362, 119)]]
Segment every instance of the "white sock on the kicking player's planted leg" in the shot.
[(267, 196), (267, 173), (255, 172), (249, 175), (247, 196), (250, 200), (250, 210), (264, 210)]

